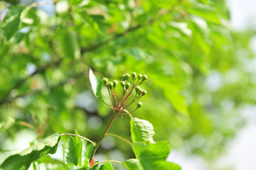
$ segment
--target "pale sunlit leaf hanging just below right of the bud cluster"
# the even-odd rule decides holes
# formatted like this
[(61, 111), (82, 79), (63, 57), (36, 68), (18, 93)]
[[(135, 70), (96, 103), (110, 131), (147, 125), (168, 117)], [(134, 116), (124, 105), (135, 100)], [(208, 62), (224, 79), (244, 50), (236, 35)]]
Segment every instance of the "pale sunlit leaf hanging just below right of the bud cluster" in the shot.
[(131, 134), (132, 142), (149, 141), (154, 142), (154, 128), (147, 120), (141, 120), (139, 118), (131, 118)]

